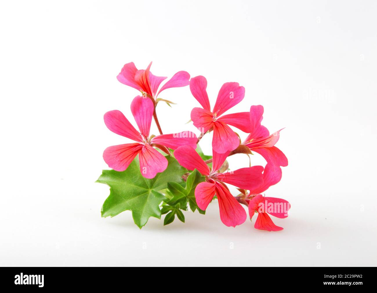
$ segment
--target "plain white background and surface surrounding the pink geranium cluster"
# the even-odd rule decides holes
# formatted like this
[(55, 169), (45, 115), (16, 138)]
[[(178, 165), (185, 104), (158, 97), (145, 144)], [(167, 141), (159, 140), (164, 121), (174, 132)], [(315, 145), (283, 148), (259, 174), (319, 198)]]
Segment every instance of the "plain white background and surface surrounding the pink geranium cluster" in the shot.
[[(376, 15), (374, 1), (2, 1), (0, 265), (375, 266)], [(216, 202), (166, 227), (101, 218), (103, 150), (128, 142), (103, 114), (134, 123), (138, 93), (116, 80), (131, 61), (204, 75), (211, 105), (237, 81), (228, 113), (262, 104), (263, 125), (285, 127), (289, 165), (266, 192), (291, 203), (283, 231), (226, 227)], [(164, 132), (195, 131), (189, 87), (160, 97), (177, 103), (158, 105)]]

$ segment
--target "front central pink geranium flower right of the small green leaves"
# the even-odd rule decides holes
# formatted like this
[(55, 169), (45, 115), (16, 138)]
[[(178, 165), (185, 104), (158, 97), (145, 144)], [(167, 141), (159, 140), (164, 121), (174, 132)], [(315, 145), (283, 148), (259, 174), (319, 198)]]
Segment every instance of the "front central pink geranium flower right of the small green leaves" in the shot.
[(230, 152), (219, 154), (213, 151), (212, 170), (190, 146), (179, 147), (174, 151), (174, 156), (178, 162), (186, 169), (197, 169), (205, 176), (205, 182), (196, 186), (195, 198), (198, 207), (202, 210), (207, 209), (213, 197), (217, 195), (220, 209), (220, 219), (226, 226), (235, 227), (244, 223), (246, 220), (245, 209), (238, 203), (236, 198), (231, 195), (224, 183), (244, 189), (255, 189), (263, 183), (262, 166), (241, 168), (235, 171), (219, 173), (226, 157)]

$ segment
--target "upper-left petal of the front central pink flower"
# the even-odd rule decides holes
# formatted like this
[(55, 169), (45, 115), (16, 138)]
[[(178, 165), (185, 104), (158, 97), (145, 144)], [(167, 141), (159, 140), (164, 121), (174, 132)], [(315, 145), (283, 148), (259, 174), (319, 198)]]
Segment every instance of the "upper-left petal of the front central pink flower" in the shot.
[(210, 168), (208, 165), (203, 161), (199, 154), (188, 145), (177, 148), (174, 151), (174, 157), (186, 169), (197, 169), (202, 175), (210, 174)]

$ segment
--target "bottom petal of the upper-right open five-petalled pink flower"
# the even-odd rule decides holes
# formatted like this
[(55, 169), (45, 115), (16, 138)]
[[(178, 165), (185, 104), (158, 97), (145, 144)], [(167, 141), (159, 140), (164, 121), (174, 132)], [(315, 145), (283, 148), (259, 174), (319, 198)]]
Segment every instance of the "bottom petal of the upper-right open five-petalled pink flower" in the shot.
[(239, 137), (237, 134), (225, 123), (216, 121), (213, 124), (213, 150), (216, 151), (216, 153), (223, 154), (227, 151), (235, 150), (238, 146)]

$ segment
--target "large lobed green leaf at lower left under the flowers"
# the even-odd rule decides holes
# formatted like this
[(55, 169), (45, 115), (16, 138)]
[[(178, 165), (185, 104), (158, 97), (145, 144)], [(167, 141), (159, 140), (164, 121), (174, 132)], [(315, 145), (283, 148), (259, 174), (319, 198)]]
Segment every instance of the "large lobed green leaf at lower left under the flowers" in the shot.
[(103, 203), (102, 217), (114, 217), (130, 210), (135, 224), (141, 229), (150, 217), (161, 218), (159, 204), (167, 198), (160, 192), (167, 188), (167, 182), (181, 183), (181, 176), (187, 171), (173, 157), (166, 157), (168, 166), (153, 179), (146, 179), (140, 173), (136, 157), (126, 171), (103, 170), (97, 182), (110, 186), (110, 195)]

